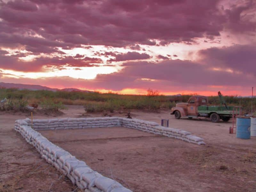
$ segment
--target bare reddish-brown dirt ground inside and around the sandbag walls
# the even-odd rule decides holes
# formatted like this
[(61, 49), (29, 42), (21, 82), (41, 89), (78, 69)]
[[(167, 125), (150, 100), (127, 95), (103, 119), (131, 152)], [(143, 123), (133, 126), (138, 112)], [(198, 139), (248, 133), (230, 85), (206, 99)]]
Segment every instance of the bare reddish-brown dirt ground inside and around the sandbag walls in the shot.
[[(82, 117), (84, 108), (68, 106), (63, 112), (60, 118)], [(190, 131), (204, 138), (206, 145), (123, 127), (40, 132), (92, 169), (133, 191), (256, 191), (256, 138), (236, 139), (235, 134), (228, 133), (231, 122), (177, 120), (169, 111), (132, 110), (131, 115), (158, 123), (162, 118), (169, 119), (169, 127)], [(28, 116), (0, 113), (0, 191), (77, 191), (13, 130), (16, 119)], [(56, 117), (38, 113), (34, 118)]]

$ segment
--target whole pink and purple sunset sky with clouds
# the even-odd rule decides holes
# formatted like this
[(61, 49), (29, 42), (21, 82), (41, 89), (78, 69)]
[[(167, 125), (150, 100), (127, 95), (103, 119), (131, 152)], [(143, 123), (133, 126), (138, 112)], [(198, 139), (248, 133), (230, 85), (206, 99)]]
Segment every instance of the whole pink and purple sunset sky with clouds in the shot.
[(256, 0), (0, 0), (0, 82), (248, 96)]

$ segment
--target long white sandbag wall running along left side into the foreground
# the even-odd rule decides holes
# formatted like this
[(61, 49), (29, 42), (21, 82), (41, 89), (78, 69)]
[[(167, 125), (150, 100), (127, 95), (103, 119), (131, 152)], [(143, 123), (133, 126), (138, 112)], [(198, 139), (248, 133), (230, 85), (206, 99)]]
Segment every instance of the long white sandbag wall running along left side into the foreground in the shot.
[[(97, 120), (100, 121), (101, 119)], [(111, 120), (114, 125), (116, 119), (106, 119), (106, 121)], [(113, 120), (115, 121), (113, 122)], [(38, 123), (38, 121), (36, 122)], [(48, 121), (48, 123), (56, 122), (56, 120)], [(75, 156), (72, 156), (64, 149), (54, 145), (39, 132), (27, 126), (28, 123), (28, 119), (16, 120), (14, 129), (20, 132), (26, 141), (36, 148), (47, 163), (52, 164), (58, 171), (66, 175), (79, 189), (86, 192), (132, 192), (115, 180), (104, 177), (100, 173), (93, 171), (84, 161), (79, 161)], [(45, 123), (47, 122), (45, 121)]]

